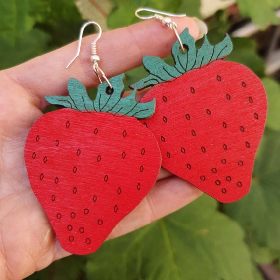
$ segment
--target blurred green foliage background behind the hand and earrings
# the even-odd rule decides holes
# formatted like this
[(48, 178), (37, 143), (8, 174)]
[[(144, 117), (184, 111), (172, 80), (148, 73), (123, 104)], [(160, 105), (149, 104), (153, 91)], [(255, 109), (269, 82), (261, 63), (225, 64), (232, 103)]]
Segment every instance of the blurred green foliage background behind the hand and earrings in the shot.
[[(95, 4), (90, 18), (83, 2)], [(0, 0), (0, 69), (75, 40), (84, 19), (113, 29), (136, 22), (134, 11), (141, 6), (200, 17), (200, 5), (200, 0)], [(263, 30), (279, 24), (280, 0), (237, 0), (237, 5), (240, 17)], [(212, 44), (232, 28), (223, 10), (207, 23)], [(265, 75), (254, 38), (232, 41), (226, 59), (247, 65), (262, 79), (269, 103), (249, 194), (226, 205), (203, 195), (168, 217), (105, 242), (91, 255), (58, 260), (28, 280), (263, 280), (259, 266), (279, 267), (280, 84)], [(145, 76), (142, 67), (131, 70), (126, 85)]]

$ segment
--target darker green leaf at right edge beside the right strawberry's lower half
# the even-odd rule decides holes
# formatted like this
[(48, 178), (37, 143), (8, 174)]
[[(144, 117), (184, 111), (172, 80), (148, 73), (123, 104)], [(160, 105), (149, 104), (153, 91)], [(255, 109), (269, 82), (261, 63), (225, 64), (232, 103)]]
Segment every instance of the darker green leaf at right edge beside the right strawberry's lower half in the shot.
[(280, 250), (280, 132), (267, 129), (255, 162), (252, 187), (241, 200), (224, 205), (259, 247)]

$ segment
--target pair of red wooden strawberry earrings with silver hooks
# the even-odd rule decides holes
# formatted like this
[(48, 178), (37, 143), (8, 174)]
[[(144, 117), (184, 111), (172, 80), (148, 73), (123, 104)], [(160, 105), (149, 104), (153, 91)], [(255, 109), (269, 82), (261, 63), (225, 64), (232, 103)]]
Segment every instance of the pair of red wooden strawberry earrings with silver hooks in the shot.
[[(267, 111), (261, 81), (245, 66), (222, 60), (232, 50), (229, 36), (215, 46), (204, 36), (197, 50), (188, 29), (179, 35), (170, 18), (141, 18), (174, 30), (174, 66), (143, 57), (149, 76), (122, 98), (124, 74), (106, 78), (96, 53), (101, 28), (85, 23), (69, 65), (79, 55), (84, 28), (95, 24), (97, 96), (92, 101), (84, 85), (70, 79), (68, 96), (46, 96), (66, 108), (41, 117), (26, 141), (31, 187), (62, 247), (74, 254), (100, 247), (147, 195), (161, 165), (221, 202), (233, 202), (250, 188)], [(137, 89), (149, 86), (136, 102)]]

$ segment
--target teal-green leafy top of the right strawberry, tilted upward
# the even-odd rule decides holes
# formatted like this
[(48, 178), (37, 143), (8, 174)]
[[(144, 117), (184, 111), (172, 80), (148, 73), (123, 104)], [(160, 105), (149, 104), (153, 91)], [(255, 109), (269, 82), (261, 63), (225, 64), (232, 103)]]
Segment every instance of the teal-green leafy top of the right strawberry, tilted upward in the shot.
[(189, 34), (188, 28), (180, 34), (185, 53), (180, 51), (178, 40), (173, 44), (171, 54), (174, 66), (166, 64), (156, 56), (144, 56), (142, 61), (149, 76), (130, 85), (132, 89), (143, 89), (162, 82), (170, 82), (191, 70), (207, 66), (213, 61), (223, 59), (232, 51), (232, 42), (226, 34), (224, 40), (217, 45), (211, 45), (204, 35), (202, 46), (196, 49), (195, 40)]

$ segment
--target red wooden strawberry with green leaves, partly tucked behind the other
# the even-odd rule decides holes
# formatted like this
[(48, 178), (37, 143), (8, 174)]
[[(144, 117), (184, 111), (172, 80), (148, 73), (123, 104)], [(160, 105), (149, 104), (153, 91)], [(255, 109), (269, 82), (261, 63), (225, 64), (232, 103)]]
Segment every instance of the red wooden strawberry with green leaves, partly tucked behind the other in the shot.
[(188, 51), (173, 45), (173, 67), (143, 58), (150, 75), (131, 87), (154, 85), (141, 102), (156, 98), (157, 110), (141, 122), (156, 136), (164, 168), (220, 202), (233, 202), (250, 188), (265, 90), (250, 69), (221, 60), (232, 50), (228, 36), (216, 46), (205, 36), (199, 50), (187, 29), (180, 37)]

